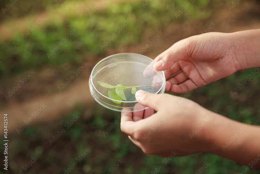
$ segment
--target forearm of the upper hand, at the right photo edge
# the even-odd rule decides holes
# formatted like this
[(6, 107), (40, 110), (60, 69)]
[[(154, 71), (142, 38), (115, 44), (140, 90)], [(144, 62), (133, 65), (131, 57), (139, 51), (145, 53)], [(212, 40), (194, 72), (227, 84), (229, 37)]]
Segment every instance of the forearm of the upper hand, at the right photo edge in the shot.
[(260, 29), (230, 33), (230, 38), (238, 70), (260, 66)]

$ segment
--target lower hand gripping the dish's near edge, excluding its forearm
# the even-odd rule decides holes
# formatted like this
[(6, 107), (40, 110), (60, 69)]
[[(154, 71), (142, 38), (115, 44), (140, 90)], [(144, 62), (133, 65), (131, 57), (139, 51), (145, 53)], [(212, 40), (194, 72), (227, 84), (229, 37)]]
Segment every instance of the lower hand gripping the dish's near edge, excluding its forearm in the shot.
[[(204, 131), (189, 136), (206, 116), (212, 114), (211, 111), (188, 99), (179, 106), (181, 97), (174, 95), (142, 92), (136, 92), (136, 99), (150, 108), (121, 114), (122, 132), (129, 135), (129, 139), (142, 151), (160, 156), (169, 156), (171, 151), (175, 151), (177, 156), (185, 156), (214, 148), (209, 146)], [(153, 109), (157, 113), (154, 114)]]

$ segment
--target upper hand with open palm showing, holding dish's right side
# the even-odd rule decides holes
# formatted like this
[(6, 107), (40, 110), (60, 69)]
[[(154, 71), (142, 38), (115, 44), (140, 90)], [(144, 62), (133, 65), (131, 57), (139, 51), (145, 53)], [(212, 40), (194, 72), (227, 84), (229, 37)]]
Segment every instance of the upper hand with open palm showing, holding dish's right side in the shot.
[[(235, 54), (231, 50), (230, 33), (205, 33), (195, 35), (173, 44), (154, 60), (155, 70), (164, 71), (166, 91), (184, 93), (222, 79), (239, 70)], [(225, 58), (225, 60), (223, 59)], [(223, 60), (223, 61), (222, 61)]]

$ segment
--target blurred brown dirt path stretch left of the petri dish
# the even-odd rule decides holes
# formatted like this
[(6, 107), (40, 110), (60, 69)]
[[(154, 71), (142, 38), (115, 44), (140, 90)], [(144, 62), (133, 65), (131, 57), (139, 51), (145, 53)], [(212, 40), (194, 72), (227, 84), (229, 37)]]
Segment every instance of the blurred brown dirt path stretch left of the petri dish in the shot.
[[(10, 105), (1, 110), (0, 115), (2, 116), (4, 113), (8, 113), (9, 132), (19, 129), (20, 124), (24, 124), (25, 122), (35, 124), (37, 122), (48, 122), (57, 119), (61, 115), (71, 111), (76, 104), (93, 104), (93, 99), (89, 92), (88, 80), (71, 84), (71, 86), (68, 86), (64, 90), (66, 91), (53, 95), (42, 95), (25, 103)], [(34, 114), (33, 112), (36, 113)]]

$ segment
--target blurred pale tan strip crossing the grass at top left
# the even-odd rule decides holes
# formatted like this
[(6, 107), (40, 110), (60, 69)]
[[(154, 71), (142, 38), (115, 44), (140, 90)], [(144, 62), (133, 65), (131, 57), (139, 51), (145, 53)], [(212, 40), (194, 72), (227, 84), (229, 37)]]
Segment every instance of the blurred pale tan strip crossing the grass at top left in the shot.
[[(18, 2), (16, 5), (18, 6), (19, 3), (23, 2)], [(55, 20), (66, 21), (68, 15), (70, 17), (77, 17), (82, 16), (82, 14), (88, 14), (88, 12), (92, 10), (92, 7), (97, 5), (96, 3), (100, 3), (100, 0), (88, 1), (87, 4), (84, 1), (77, 3), (74, 3), (73, 1), (64, 1), (62, 3), (62, 5), (57, 5), (56, 3), (52, 4), (52, 6), (48, 8), (49, 11), (47, 13), (43, 12), (37, 15), (28, 15), (21, 19), (18, 18), (12, 19), (11, 21), (3, 21), (0, 23), (0, 40), (7, 41), (12, 39), (15, 33), (25, 33), (29, 30), (29, 26), (33, 25), (35, 22), (38, 22), (38, 24), (36, 24), (37, 27), (43, 27), (45, 26), (44, 24), (51, 23)], [(112, 3), (121, 3), (121, 0), (113, 2), (105, 1), (98, 10), (102, 10)]]

